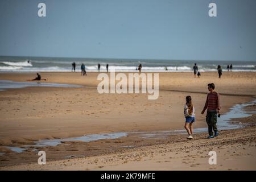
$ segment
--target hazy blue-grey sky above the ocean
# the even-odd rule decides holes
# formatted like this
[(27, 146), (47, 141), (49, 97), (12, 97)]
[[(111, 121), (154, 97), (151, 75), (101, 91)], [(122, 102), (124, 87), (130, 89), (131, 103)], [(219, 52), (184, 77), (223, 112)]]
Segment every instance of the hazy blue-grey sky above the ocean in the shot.
[(0, 55), (255, 61), (256, 1), (0, 0)]

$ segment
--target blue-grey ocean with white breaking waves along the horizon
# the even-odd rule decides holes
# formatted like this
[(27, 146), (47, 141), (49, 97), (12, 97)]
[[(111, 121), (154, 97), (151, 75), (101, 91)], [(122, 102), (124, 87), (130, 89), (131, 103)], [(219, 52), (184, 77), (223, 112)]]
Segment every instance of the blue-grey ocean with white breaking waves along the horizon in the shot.
[[(28, 60), (29, 63), (28, 63)], [(142, 64), (142, 72), (192, 72), (194, 63), (197, 63), (200, 72), (217, 71), (217, 65), (227, 71), (229, 64), (233, 71), (255, 72), (256, 61), (202, 61), (202, 60), (147, 60), (147, 59), (90, 59), (90, 58), (61, 58), (61, 57), (7, 57), (0, 56), (0, 72), (71, 72), (72, 63), (76, 63), (76, 70), (81, 70), (85, 64), (88, 72), (97, 72), (98, 63), (101, 71), (134, 72)]]

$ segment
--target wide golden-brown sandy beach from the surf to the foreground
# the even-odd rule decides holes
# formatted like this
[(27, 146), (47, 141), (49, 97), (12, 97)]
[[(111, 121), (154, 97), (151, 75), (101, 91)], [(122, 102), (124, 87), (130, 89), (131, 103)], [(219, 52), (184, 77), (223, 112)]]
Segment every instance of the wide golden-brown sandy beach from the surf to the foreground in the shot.
[[(109, 73), (108, 73), (109, 74)], [(126, 73), (127, 74), (127, 73)], [(234, 122), (250, 123), (242, 129), (208, 133), (142, 138), (129, 134), (94, 142), (64, 142), (58, 146), (30, 148), (16, 153), (5, 146), (23, 147), (42, 139), (81, 137), (100, 133), (133, 133), (184, 129), (183, 107), (190, 95), (196, 109), (195, 128), (207, 127), (204, 107), (207, 84), (214, 82), (221, 97), (221, 114), (236, 104), (254, 101), (256, 72), (159, 73), (159, 98), (147, 94), (99, 94), (98, 73), (42, 72), (51, 83), (76, 84), (82, 88), (28, 87), (0, 92), (0, 169), (36, 170), (191, 170), (256, 169), (255, 115)], [(0, 73), (0, 80), (26, 81), (35, 73)], [(255, 112), (254, 106), (247, 108)], [(128, 146), (128, 147), (127, 147)], [(37, 151), (47, 154), (40, 166)], [(208, 164), (208, 152), (216, 150), (218, 164)], [(236, 164), (236, 165), (234, 165)], [(136, 166), (136, 168), (134, 168)]]

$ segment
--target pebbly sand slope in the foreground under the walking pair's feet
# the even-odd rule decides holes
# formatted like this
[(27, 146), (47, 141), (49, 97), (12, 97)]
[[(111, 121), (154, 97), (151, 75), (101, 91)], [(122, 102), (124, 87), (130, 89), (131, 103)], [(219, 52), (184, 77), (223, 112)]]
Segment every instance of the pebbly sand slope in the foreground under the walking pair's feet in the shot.
[[(246, 119), (238, 119), (246, 121)], [(98, 147), (92, 144), (89, 155), (69, 155), (63, 160), (48, 160), (44, 166), (36, 163), (0, 167), (1, 170), (255, 170), (256, 169), (256, 126), (242, 129), (223, 130), (214, 139), (205, 139), (206, 134), (195, 134), (193, 140), (184, 135), (171, 135), (166, 139), (129, 138), (101, 140)], [(127, 141), (130, 140), (130, 143)], [(131, 142), (133, 140), (133, 142)], [(137, 142), (137, 144), (135, 144)], [(134, 147), (116, 149), (125, 144)], [(140, 144), (138, 144), (140, 143)], [(143, 143), (143, 144), (142, 144)], [(112, 150), (106, 148), (112, 145)], [(76, 151), (76, 144), (73, 151)], [(59, 148), (60, 149), (60, 148)], [(100, 150), (101, 152), (98, 152)], [(105, 151), (102, 151), (105, 150)], [(62, 153), (63, 148), (60, 150)], [(217, 164), (209, 165), (209, 151), (216, 151)], [(46, 151), (48, 154), (48, 151)], [(74, 153), (73, 153), (74, 154)], [(34, 159), (36, 160), (36, 158)]]

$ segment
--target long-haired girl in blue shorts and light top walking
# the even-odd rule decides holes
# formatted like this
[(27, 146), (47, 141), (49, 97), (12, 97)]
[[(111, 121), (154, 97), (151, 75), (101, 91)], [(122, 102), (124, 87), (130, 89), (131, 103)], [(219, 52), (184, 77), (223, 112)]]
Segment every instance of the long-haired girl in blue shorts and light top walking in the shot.
[(191, 96), (186, 97), (186, 104), (184, 106), (184, 116), (185, 116), (185, 126), (184, 126), (184, 128), (188, 132), (187, 139), (193, 139), (193, 137), (192, 137), (193, 122), (195, 122), (196, 119), (195, 119), (195, 107), (193, 106)]

